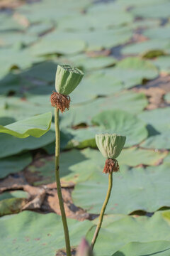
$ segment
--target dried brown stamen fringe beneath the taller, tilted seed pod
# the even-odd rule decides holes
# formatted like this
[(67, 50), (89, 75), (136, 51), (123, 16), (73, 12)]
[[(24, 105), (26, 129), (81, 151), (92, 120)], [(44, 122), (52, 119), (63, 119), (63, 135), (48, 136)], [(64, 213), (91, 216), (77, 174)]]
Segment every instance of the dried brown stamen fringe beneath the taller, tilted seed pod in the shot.
[(50, 97), (52, 107), (57, 107), (62, 113), (69, 110), (70, 97), (69, 95), (62, 95), (58, 92), (52, 92)]

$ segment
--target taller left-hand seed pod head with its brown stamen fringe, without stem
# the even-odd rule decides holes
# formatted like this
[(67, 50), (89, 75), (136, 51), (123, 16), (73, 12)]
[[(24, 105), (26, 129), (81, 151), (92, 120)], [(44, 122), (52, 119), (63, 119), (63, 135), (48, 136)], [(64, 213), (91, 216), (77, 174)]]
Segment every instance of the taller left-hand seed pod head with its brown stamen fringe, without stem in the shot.
[(78, 68), (71, 68), (69, 65), (57, 65), (55, 75), (55, 89), (50, 100), (52, 107), (56, 107), (62, 113), (69, 110), (69, 94), (79, 85), (84, 73)]

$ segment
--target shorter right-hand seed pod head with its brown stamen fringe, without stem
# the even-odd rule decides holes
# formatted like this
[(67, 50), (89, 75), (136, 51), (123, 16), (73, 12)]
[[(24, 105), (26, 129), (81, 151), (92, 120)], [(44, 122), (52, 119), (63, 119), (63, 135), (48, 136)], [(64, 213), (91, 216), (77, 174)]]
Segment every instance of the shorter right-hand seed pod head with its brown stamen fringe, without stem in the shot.
[(106, 163), (103, 173), (108, 174), (111, 172), (119, 171), (119, 165), (116, 158), (125, 145), (125, 136), (118, 134), (96, 134), (96, 144), (101, 154), (106, 158)]

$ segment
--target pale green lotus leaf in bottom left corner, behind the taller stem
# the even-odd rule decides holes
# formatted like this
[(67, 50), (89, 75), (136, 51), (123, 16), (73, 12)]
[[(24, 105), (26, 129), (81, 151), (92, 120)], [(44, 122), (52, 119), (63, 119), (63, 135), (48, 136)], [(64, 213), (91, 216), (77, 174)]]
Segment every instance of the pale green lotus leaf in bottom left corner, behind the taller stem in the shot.
[[(0, 222), (1, 253), (4, 255), (13, 251), (16, 255), (22, 252), (23, 255), (55, 256), (57, 250), (64, 247), (62, 220), (55, 213), (40, 214), (26, 210), (17, 215), (5, 216)], [(88, 220), (79, 222), (68, 219), (68, 225), (74, 246), (79, 245), (81, 237), (91, 228)]]

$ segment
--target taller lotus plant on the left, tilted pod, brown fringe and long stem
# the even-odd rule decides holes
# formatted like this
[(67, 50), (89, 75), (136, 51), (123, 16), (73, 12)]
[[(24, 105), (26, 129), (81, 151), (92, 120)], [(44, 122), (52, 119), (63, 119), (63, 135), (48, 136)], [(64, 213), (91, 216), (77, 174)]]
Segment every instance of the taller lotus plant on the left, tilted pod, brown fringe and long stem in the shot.
[(59, 111), (62, 113), (69, 110), (70, 97), (69, 94), (79, 85), (84, 73), (78, 68), (71, 68), (69, 65), (58, 65), (55, 78), (56, 92), (52, 92), (50, 97), (52, 107), (55, 107), (55, 176), (57, 183), (57, 195), (60, 203), (60, 211), (62, 215), (62, 223), (64, 228), (64, 238), (66, 243), (67, 256), (71, 256), (71, 248), (69, 242), (69, 229), (67, 218), (64, 210), (62, 198), (62, 189), (60, 183), (60, 126)]

